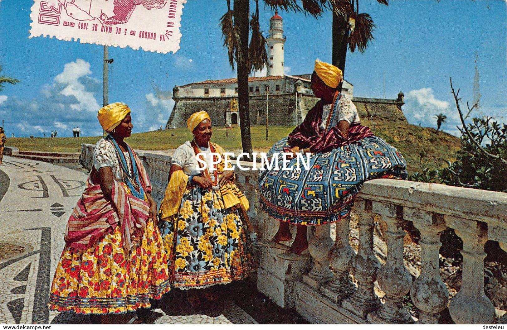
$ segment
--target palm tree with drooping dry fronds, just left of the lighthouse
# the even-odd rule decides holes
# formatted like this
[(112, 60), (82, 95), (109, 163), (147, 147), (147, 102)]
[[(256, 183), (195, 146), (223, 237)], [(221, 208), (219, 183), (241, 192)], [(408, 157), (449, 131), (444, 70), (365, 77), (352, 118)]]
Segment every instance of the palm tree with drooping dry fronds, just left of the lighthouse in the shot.
[[(248, 106), (248, 75), (252, 70), (261, 70), (268, 64), (266, 38), (259, 24), (259, 0), (255, 0), (256, 11), (251, 14), (250, 0), (227, 0), (227, 13), (220, 18), (224, 37), (224, 48), (228, 50), (229, 64), (238, 76), (238, 107), (243, 152), (251, 154), (250, 110)], [(248, 44), (251, 30), (250, 43)]]

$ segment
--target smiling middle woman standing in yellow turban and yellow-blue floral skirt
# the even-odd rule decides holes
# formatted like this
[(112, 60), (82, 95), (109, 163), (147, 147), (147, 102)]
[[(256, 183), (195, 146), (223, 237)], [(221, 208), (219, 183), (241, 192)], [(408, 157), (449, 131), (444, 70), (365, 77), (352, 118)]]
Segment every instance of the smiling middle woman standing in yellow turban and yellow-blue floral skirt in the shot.
[[(225, 284), (248, 276), (248, 200), (234, 184), (234, 172), (224, 171), (224, 149), (210, 142), (211, 119), (206, 111), (187, 122), (194, 135), (172, 156), (169, 184), (160, 206), (160, 232), (168, 253), (171, 284), (183, 290)], [(215, 153), (215, 155), (213, 155)], [(197, 155), (216, 169), (200, 171)], [(189, 291), (191, 305), (200, 298), (216, 299), (210, 290)]]

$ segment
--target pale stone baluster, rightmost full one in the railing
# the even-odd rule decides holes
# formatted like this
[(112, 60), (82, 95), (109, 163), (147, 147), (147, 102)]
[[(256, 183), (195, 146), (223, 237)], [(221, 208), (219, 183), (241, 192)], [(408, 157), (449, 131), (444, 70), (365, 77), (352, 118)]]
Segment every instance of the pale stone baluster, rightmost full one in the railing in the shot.
[(445, 221), (463, 240), (461, 288), (449, 304), (449, 313), (456, 324), (491, 324), (495, 308), (484, 293), (487, 225), (451, 216), (445, 216)]

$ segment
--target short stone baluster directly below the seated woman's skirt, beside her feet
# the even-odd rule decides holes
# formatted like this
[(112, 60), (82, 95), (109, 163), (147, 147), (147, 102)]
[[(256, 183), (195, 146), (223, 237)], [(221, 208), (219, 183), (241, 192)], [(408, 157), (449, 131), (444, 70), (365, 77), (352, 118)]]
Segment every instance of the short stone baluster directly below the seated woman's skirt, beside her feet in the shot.
[(330, 231), (329, 223), (315, 226), (315, 235), (308, 241), (308, 252), (313, 260), (313, 268), (308, 275), (303, 276), (303, 280), (315, 290), (333, 279), (333, 272), (329, 268), (329, 252), (333, 247)]

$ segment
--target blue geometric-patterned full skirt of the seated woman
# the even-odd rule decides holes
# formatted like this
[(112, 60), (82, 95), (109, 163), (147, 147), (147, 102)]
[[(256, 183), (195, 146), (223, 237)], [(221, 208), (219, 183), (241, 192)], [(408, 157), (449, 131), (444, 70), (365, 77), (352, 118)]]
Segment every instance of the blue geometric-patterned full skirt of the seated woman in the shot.
[[(287, 138), (276, 142), (268, 152), (283, 152)], [(306, 161), (306, 157), (305, 157)], [(378, 178), (406, 179), (406, 162), (402, 154), (375, 136), (361, 139), (329, 152), (310, 156), (307, 171), (297, 158), (282, 170), (278, 167), (260, 171), (259, 193), (264, 212), (271, 217), (297, 225), (323, 225), (348, 216), (352, 198), (366, 180)], [(266, 167), (266, 166), (265, 166)]]

